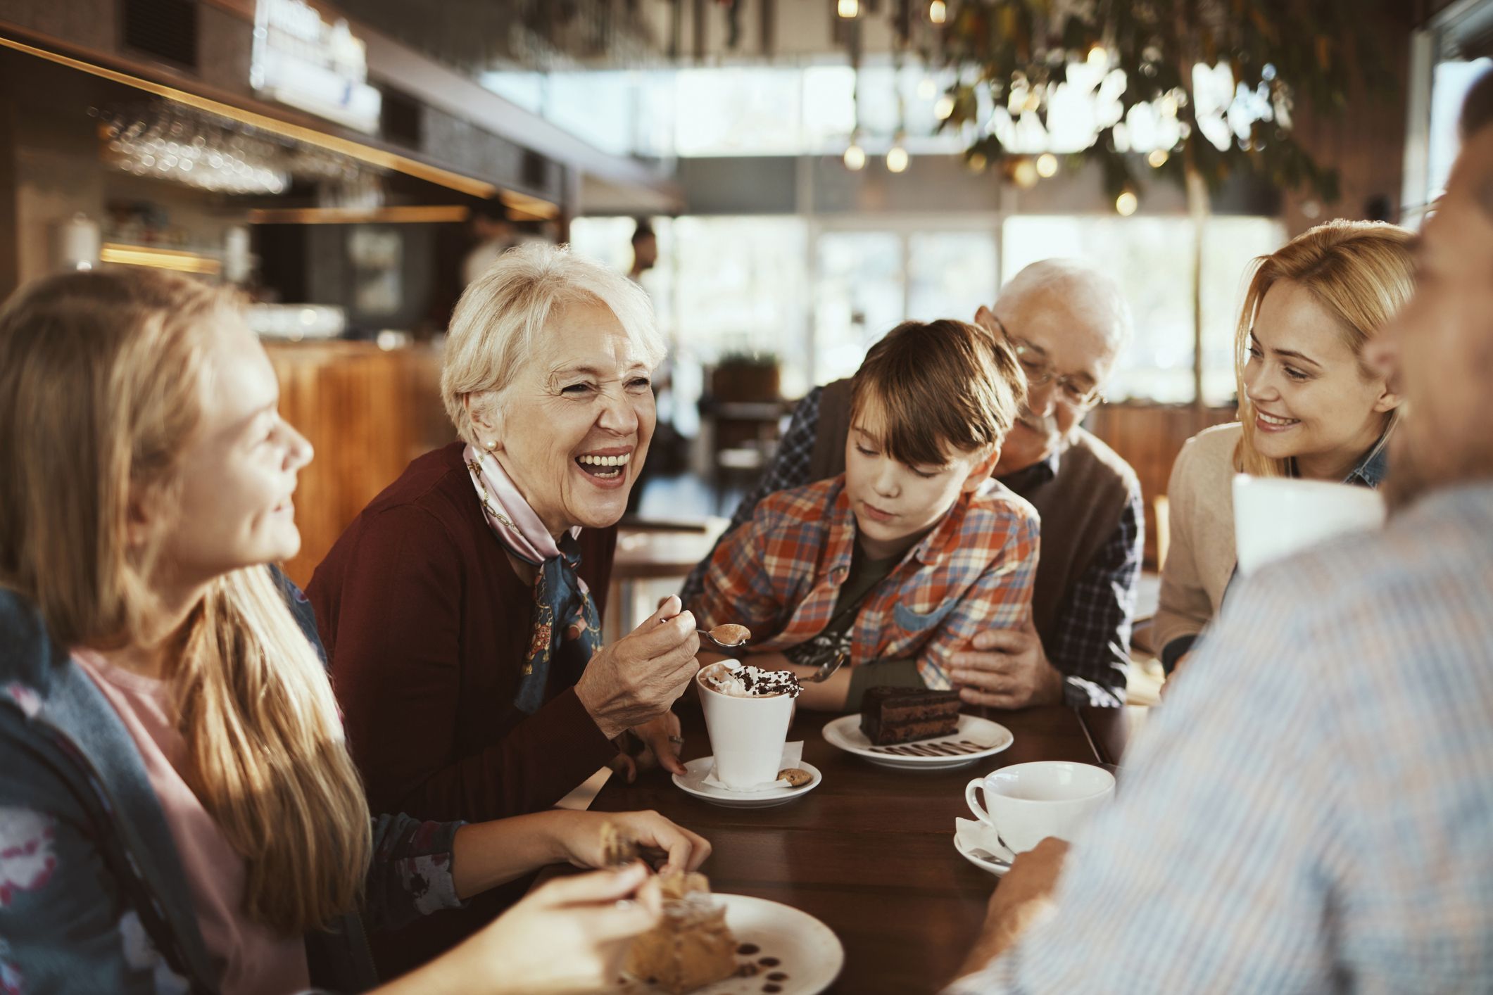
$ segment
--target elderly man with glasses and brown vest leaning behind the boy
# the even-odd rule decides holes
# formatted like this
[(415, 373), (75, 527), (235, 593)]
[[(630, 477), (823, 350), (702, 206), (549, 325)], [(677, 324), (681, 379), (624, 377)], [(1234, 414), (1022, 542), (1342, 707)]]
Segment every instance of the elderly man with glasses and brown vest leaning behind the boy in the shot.
[[(1047, 260), (1021, 270), (975, 322), (1005, 336), (1027, 374), (1027, 403), (994, 476), (1041, 513), (1042, 555), (1032, 624), (978, 634), (956, 658), (951, 676), (969, 704), (1120, 706), (1144, 506), (1130, 465), (1079, 422), (1103, 400), (1103, 383), (1130, 336), (1130, 309), (1109, 277), (1079, 263)], [(811, 391), (730, 530), (751, 519), (767, 494), (841, 473), (848, 433), (850, 380)], [(685, 604), (699, 595), (708, 562), (709, 556), (685, 582)], [(858, 683), (920, 680), (911, 662), (885, 661)], [(855, 707), (854, 700), (850, 704)]]

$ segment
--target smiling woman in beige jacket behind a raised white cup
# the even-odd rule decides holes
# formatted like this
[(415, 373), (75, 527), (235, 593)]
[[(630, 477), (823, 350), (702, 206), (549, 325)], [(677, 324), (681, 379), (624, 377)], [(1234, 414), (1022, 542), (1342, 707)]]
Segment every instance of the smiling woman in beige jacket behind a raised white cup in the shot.
[(1235, 340), (1239, 421), (1188, 440), (1168, 486), (1156, 638), (1175, 671), (1233, 579), (1235, 473), (1377, 488), (1400, 395), (1365, 346), (1414, 289), (1412, 236), (1333, 221), (1256, 263)]

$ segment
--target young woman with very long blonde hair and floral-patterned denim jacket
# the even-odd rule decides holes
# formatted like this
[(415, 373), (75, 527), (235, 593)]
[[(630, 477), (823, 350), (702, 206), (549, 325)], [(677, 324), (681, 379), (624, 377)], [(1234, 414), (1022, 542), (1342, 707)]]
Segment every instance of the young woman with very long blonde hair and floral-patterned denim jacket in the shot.
[[(233, 300), (81, 273), (0, 310), (0, 989), (366, 991), (357, 914), (408, 922), (554, 861), (600, 816), (372, 823), (300, 592), (311, 446)], [(709, 846), (623, 817), (694, 865)], [(645, 870), (534, 892), (390, 992), (615, 979)]]

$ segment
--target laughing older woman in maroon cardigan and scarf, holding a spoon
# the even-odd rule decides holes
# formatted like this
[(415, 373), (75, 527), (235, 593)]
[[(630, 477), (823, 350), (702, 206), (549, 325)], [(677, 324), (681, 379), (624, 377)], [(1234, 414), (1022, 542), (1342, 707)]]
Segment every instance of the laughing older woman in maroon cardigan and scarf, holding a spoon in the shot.
[[(694, 618), (670, 598), (600, 641), (661, 358), (646, 294), (566, 249), (512, 249), (461, 295), (440, 377), (461, 442), (411, 462), (308, 586), (376, 812), (546, 809), (624, 735), (682, 770), (669, 707), (697, 667)], [(418, 923), (424, 935), (387, 944), (381, 968), (451, 946), (491, 911)]]

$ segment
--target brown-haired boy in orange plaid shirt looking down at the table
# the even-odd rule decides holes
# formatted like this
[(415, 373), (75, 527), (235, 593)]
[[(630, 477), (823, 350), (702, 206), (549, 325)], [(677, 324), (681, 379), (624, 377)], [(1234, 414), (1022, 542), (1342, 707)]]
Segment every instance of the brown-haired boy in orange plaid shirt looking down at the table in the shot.
[(951, 688), (975, 633), (1032, 612), (1038, 515), (990, 479), (1024, 391), (982, 328), (893, 328), (855, 373), (845, 473), (769, 495), (726, 537), (688, 606), (700, 628), (745, 625), (749, 662), (800, 676), (848, 653), (805, 685), (811, 709), (858, 709), (875, 685)]

